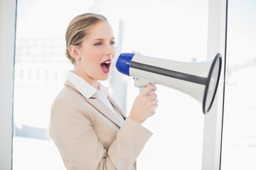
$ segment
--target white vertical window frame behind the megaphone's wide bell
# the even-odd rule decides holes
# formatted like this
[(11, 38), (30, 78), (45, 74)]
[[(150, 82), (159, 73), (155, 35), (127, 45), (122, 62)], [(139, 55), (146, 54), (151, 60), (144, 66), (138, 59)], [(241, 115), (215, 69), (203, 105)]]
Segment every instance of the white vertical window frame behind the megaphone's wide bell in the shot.
[(210, 59), (220, 52), (222, 71), (215, 102), (204, 118), (202, 169), (217, 170), (220, 169), (221, 162), (228, 0), (209, 0), (208, 3), (207, 58)]

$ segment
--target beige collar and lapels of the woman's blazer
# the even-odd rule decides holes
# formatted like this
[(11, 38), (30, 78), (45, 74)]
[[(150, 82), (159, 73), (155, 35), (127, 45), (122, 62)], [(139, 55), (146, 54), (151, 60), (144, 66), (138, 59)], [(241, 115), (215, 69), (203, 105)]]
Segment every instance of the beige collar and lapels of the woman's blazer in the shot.
[[(79, 93), (80, 95), (82, 95), (77, 89), (75, 89), (75, 86), (73, 86), (73, 84), (70, 83), (70, 81), (65, 81), (65, 86), (70, 87), (71, 89), (75, 90), (77, 93)], [(83, 98), (85, 98), (85, 96), (83, 96)], [(117, 111), (122, 115), (122, 117), (125, 119), (126, 115), (124, 114), (124, 111), (122, 111), (121, 108), (119, 108), (119, 106), (117, 105), (117, 103), (114, 102), (114, 100), (107, 95), (107, 98), (110, 100), (110, 103), (112, 103), (112, 105), (114, 106), (114, 108), (117, 109)], [(92, 97), (90, 98), (85, 98), (85, 101), (87, 101), (88, 103), (90, 103), (94, 108), (97, 109), (97, 111), (99, 111), (100, 113), (102, 113), (102, 115), (105, 115), (105, 117), (107, 117), (108, 119), (110, 119), (113, 123), (115, 123), (117, 126), (119, 126), (119, 128), (121, 128), (123, 121), (119, 120), (119, 118), (117, 117), (117, 115), (115, 113), (113, 113), (110, 108), (108, 108), (105, 103), (103, 103), (99, 98), (97, 98), (97, 96), (92, 95)]]

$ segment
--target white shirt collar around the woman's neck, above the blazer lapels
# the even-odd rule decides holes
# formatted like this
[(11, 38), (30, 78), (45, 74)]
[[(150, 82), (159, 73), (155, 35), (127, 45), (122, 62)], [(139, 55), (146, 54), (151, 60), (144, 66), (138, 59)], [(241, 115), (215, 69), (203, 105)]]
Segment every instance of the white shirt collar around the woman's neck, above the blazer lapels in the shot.
[(99, 90), (95, 89), (95, 87), (88, 84), (87, 81), (79, 77), (78, 74), (75, 74), (74, 71), (68, 72), (67, 79), (68, 81), (70, 81), (71, 84), (73, 84), (73, 86), (75, 86), (75, 89), (77, 89), (82, 94), (82, 96), (85, 96), (85, 98), (90, 98), (94, 94), (96, 94), (96, 96), (102, 95), (107, 97), (109, 89), (103, 86), (103, 84), (101, 84), (100, 82), (98, 85)]

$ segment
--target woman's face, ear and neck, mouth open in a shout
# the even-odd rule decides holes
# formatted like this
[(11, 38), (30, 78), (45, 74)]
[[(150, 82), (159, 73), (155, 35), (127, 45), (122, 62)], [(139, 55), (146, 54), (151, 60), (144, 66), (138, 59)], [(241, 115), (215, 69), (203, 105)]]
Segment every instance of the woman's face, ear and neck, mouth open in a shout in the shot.
[(114, 59), (114, 35), (106, 21), (88, 30), (87, 38), (78, 48), (75, 73), (97, 88), (97, 80), (106, 80)]

